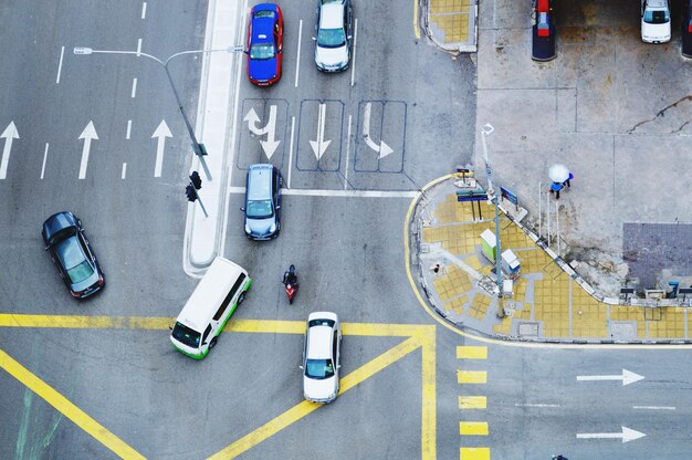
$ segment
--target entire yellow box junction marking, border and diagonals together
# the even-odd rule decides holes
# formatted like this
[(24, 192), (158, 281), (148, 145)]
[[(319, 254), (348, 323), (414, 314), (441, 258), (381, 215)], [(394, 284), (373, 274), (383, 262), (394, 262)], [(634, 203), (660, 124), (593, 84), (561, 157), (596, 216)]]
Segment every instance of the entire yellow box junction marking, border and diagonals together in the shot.
[[(46, 328), (108, 328), (108, 330), (167, 330), (175, 323), (172, 317), (139, 316), (70, 316), (70, 315), (23, 315), (0, 314), (0, 327), (46, 327)], [(421, 401), (421, 458), (432, 460), (437, 456), (437, 412), (436, 412), (436, 327), (416, 324), (369, 324), (344, 323), (344, 335), (398, 336), (408, 337), (350, 374), (342, 377), (339, 394), (357, 386), (385, 367), (396, 363), (408, 354), (421, 348), (422, 363), (422, 401)], [(302, 321), (231, 320), (224, 332), (304, 334)], [(27, 385), (59, 411), (69, 417), (122, 458), (143, 459), (144, 457), (94, 421), (64, 396), (55, 391), (43, 380), (31, 374), (4, 352), (0, 351), (0, 367)], [(245, 435), (210, 459), (234, 458), (289, 425), (316, 410), (322, 405), (302, 401), (279, 415), (264, 426)]]

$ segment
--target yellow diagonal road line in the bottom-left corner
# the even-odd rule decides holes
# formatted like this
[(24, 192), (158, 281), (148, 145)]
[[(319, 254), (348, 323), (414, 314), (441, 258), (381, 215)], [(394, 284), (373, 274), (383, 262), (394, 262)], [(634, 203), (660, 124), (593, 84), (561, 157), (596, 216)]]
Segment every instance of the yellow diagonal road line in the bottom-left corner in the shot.
[(53, 387), (33, 375), (29, 369), (14, 360), (4, 351), (0, 349), (0, 367), (7, 370), (48, 404), (72, 420), (77, 427), (93, 436), (98, 442), (111, 449), (123, 459), (144, 459), (139, 452), (126, 445), (117, 436), (105, 429), (86, 412), (72, 404)]

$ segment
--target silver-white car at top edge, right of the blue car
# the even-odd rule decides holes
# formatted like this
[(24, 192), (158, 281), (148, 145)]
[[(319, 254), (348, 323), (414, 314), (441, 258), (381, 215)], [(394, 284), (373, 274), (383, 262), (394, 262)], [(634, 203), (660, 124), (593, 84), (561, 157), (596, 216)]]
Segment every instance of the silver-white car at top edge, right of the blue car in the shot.
[(317, 0), (315, 64), (323, 72), (342, 72), (350, 63), (350, 0)]

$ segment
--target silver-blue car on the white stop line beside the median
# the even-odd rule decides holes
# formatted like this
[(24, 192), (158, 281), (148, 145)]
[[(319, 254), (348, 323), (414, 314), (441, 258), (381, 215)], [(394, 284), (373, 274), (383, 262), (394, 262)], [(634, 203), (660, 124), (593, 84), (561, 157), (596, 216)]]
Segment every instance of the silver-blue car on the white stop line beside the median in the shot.
[(281, 230), (281, 185), (273, 165), (251, 165), (245, 184), (245, 234), (251, 240), (270, 240)]

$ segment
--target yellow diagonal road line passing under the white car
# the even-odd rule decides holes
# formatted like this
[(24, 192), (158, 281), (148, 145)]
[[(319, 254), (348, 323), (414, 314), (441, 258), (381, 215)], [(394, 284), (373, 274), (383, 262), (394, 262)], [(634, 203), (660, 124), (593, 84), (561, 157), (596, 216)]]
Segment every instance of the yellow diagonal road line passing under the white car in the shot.
[[(394, 348), (390, 348), (381, 355), (377, 356), (375, 359), (364, 364), (363, 366), (340, 379), (339, 395), (348, 391), (350, 388), (377, 374), (390, 364), (401, 359), (403, 356), (416, 351), (421, 345), (422, 344), (419, 337), (409, 337)], [(318, 409), (322, 405), (302, 401), (298, 405), (286, 410), (285, 412), (281, 414), (280, 416), (275, 417), (274, 419), (270, 420), (256, 430), (243, 436), (232, 445), (209, 457), (209, 460), (235, 458), (247, 450), (259, 445), (260, 442), (264, 441), (266, 438), (283, 430), (289, 425), (302, 419), (306, 415), (311, 414), (313, 410)]]

